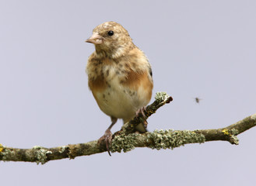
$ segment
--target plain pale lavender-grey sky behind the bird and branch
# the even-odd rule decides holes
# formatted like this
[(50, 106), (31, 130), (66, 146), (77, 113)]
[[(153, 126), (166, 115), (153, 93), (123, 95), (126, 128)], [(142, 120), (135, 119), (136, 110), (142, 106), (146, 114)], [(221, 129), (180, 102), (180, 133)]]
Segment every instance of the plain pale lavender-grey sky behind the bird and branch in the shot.
[[(53, 147), (103, 135), (110, 119), (87, 86), (94, 47), (84, 41), (106, 21), (121, 23), (149, 57), (153, 95), (174, 98), (149, 118), (149, 131), (217, 129), (244, 119), (256, 111), (255, 20), (253, 0), (1, 0), (0, 143)], [(120, 128), (121, 121), (112, 131)], [(0, 162), (1, 185), (255, 185), (255, 134), (240, 134), (239, 146)]]

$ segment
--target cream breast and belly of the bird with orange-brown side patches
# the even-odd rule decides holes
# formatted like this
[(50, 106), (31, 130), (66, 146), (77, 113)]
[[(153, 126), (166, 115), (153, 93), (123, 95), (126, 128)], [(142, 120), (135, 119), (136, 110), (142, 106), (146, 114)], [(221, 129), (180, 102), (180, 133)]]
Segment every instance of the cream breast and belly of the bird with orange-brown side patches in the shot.
[[(89, 59), (89, 88), (100, 109), (119, 119), (130, 119), (149, 103), (153, 81), (147, 60)], [(144, 58), (143, 58), (144, 59)]]

